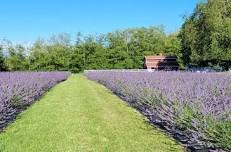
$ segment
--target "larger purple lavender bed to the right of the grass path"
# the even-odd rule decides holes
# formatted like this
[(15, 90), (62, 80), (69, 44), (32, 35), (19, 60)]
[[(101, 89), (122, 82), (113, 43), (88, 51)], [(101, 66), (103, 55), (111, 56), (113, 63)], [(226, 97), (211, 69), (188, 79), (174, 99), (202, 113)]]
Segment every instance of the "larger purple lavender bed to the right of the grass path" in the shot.
[(86, 73), (189, 148), (231, 150), (231, 75), (225, 73)]

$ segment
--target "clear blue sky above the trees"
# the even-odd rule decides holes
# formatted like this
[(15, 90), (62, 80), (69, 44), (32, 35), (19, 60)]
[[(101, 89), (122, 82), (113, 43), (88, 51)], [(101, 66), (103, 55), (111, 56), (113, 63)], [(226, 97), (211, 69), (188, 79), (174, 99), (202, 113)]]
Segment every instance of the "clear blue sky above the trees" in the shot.
[(5, 0), (1, 1), (0, 39), (33, 42), (38, 37), (77, 32), (106, 33), (163, 25), (178, 30), (183, 16), (200, 0)]

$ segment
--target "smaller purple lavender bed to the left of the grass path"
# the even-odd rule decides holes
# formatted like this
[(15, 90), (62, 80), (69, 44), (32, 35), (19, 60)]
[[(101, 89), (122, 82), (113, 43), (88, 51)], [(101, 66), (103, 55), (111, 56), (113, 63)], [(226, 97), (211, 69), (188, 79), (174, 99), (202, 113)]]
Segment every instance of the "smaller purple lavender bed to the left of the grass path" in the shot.
[(0, 72), (0, 129), (68, 76), (68, 72)]

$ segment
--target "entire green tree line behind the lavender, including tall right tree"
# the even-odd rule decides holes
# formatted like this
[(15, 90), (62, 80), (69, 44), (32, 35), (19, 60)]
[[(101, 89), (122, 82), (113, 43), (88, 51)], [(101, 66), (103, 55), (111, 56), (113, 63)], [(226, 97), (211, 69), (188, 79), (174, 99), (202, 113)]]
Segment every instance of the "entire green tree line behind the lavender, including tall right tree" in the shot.
[[(4, 45), (3, 45), (4, 44)], [(231, 0), (198, 3), (178, 32), (163, 27), (38, 39), (32, 46), (0, 43), (1, 71), (72, 71), (143, 68), (145, 55), (176, 55), (185, 66), (231, 66)]]

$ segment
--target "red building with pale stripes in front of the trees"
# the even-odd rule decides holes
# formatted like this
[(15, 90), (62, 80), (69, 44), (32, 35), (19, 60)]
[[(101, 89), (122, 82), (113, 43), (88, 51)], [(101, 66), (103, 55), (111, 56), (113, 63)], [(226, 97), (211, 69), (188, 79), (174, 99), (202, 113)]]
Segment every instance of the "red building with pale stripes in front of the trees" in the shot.
[(179, 65), (176, 56), (145, 56), (144, 68), (154, 70), (178, 70)]

